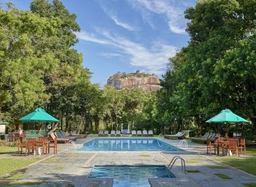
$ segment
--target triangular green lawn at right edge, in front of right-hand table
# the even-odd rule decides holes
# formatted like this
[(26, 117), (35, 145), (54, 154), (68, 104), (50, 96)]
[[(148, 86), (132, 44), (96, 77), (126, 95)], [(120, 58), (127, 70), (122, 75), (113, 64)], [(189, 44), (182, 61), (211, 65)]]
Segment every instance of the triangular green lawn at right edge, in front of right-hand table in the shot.
[(256, 175), (256, 158), (220, 157), (213, 158), (221, 163), (241, 169), (250, 174)]

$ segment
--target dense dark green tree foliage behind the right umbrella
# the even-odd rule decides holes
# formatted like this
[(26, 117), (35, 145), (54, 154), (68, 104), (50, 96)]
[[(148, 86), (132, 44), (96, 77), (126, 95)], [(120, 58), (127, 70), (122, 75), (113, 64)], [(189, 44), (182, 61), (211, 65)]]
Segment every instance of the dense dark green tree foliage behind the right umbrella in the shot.
[(191, 39), (169, 59), (158, 93), (158, 110), (170, 129), (222, 132), (205, 121), (229, 108), (251, 120), (247, 126), (256, 132), (254, 5), (254, 0), (206, 0), (185, 11)]

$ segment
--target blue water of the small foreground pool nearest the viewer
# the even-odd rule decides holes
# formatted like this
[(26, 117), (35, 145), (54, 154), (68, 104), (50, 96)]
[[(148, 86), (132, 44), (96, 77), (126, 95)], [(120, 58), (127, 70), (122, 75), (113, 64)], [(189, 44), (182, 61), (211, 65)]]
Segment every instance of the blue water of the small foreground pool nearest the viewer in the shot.
[(171, 178), (165, 166), (94, 166), (88, 178), (114, 178), (113, 186), (148, 187), (148, 178)]

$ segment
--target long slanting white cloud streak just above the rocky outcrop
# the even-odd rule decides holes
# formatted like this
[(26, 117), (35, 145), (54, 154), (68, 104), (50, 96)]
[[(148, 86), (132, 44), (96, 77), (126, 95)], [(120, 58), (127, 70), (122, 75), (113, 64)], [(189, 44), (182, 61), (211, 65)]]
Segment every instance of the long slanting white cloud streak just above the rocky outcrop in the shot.
[(161, 75), (165, 72), (168, 58), (176, 54), (177, 47), (155, 42), (152, 47), (147, 48), (143, 45), (130, 41), (122, 36), (113, 35), (106, 30), (99, 32), (100, 37), (87, 32), (76, 33), (77, 38), (85, 41), (96, 42), (98, 44), (115, 47), (127, 58), (132, 66), (145, 69), (149, 73)]

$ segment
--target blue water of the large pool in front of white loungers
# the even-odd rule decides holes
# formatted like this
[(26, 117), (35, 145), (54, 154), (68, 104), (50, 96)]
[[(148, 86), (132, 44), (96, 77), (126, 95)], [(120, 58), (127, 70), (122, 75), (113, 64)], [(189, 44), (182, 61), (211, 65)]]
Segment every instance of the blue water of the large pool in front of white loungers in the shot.
[(96, 138), (79, 151), (182, 151), (155, 138)]

